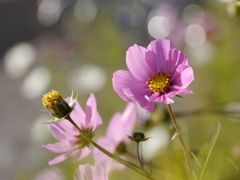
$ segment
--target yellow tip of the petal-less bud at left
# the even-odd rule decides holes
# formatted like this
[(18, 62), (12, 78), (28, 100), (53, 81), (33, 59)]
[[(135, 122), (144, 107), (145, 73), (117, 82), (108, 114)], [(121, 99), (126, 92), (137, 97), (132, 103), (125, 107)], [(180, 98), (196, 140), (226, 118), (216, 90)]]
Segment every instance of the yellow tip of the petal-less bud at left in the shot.
[(43, 96), (43, 106), (49, 109), (49, 107), (56, 105), (59, 101), (61, 101), (61, 99), (62, 97), (60, 93), (58, 91), (52, 90)]

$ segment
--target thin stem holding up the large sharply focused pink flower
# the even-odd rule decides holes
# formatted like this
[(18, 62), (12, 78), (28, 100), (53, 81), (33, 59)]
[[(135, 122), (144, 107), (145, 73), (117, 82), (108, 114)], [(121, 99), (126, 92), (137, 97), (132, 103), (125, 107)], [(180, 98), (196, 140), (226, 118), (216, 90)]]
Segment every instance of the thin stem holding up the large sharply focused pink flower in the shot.
[(191, 166), (190, 166), (190, 160), (189, 160), (189, 157), (188, 157), (187, 148), (186, 148), (186, 146), (184, 144), (184, 141), (183, 141), (182, 135), (180, 133), (177, 121), (176, 121), (176, 119), (175, 119), (175, 117), (173, 115), (172, 108), (171, 108), (170, 104), (168, 104), (167, 106), (168, 106), (168, 112), (170, 114), (170, 117), (172, 119), (173, 125), (174, 125), (174, 127), (175, 127), (175, 129), (177, 131), (177, 135), (179, 136), (179, 139), (180, 139), (180, 142), (181, 142), (181, 145), (182, 145), (184, 156), (185, 156), (185, 159), (186, 159), (186, 162), (187, 162), (189, 179), (192, 180), (192, 170), (191, 170)]

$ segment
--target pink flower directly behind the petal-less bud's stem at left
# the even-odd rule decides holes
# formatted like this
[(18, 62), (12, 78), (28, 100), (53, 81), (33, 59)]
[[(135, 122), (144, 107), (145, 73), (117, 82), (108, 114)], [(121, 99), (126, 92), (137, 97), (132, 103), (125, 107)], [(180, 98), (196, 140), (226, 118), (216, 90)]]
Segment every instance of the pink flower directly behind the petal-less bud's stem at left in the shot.
[[(70, 98), (65, 100), (69, 103)], [(89, 137), (93, 137), (94, 131), (102, 124), (102, 119), (97, 112), (94, 94), (90, 94), (87, 101), (86, 114), (77, 102), (70, 116)], [(91, 152), (89, 143), (68, 120), (49, 124), (48, 127), (52, 131), (53, 136), (60, 142), (42, 145), (42, 147), (55, 153), (63, 153), (49, 161), (49, 165), (60, 163), (68, 157), (71, 157), (72, 161), (76, 162), (88, 156)]]

